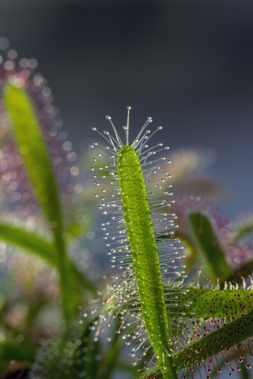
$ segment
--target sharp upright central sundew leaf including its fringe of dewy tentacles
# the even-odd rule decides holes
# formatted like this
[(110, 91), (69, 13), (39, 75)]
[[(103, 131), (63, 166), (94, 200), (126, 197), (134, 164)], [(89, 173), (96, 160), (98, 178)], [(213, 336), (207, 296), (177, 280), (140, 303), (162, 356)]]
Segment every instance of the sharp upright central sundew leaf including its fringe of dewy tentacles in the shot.
[[(110, 116), (107, 118), (111, 121)], [(165, 183), (165, 179), (161, 179), (161, 174), (157, 171), (160, 170), (160, 166), (167, 169), (170, 161), (165, 157), (155, 159), (153, 162), (149, 160), (151, 155), (164, 150), (162, 144), (158, 145), (158, 150), (154, 147), (157, 151), (148, 149), (146, 142), (152, 134), (149, 137), (150, 130), (145, 129), (151, 121), (151, 117), (148, 117), (148, 121), (130, 146), (128, 144), (129, 111), (125, 127), (125, 146), (113, 124), (116, 139), (109, 132), (104, 132), (110, 143), (110, 147), (106, 147), (110, 155), (104, 155), (101, 149), (102, 154), (98, 153), (98, 156), (102, 155), (102, 159), (107, 158), (108, 164), (104, 168), (99, 167), (98, 170), (110, 171), (109, 176), (100, 177), (110, 180), (113, 178), (113, 181), (107, 183), (110, 186), (109, 190), (102, 189), (102, 203), (99, 208), (105, 207), (106, 210), (102, 211), (105, 215), (112, 214), (110, 221), (103, 222), (101, 225), (102, 229), (108, 230), (105, 232), (104, 239), (111, 241), (111, 244), (107, 243), (106, 246), (112, 246), (108, 252), (109, 255), (112, 254), (112, 266), (123, 269), (121, 274), (113, 276), (112, 285), (116, 288), (115, 294), (118, 296), (116, 306), (121, 309), (119, 318), (122, 319), (122, 324), (129, 316), (133, 316), (138, 322), (133, 336), (138, 337), (139, 343), (131, 348), (132, 356), (134, 357), (141, 346), (148, 341), (149, 346), (146, 351), (149, 348), (154, 350), (153, 358), (156, 357), (158, 360), (164, 377), (169, 378), (175, 375), (168, 345), (170, 337), (167, 312), (168, 307), (173, 306), (169, 296), (182, 292), (174, 288), (171, 291), (170, 282), (172, 280), (174, 285), (181, 287), (182, 279), (186, 275), (182, 270), (185, 265), (181, 264), (181, 261), (176, 259), (178, 264), (174, 265), (175, 255), (176, 258), (181, 258), (176, 250), (177, 246), (179, 251), (182, 249), (182, 246), (178, 245), (180, 240), (165, 238), (173, 235), (171, 230), (177, 227), (174, 225), (176, 216), (174, 213), (164, 212), (164, 207), (170, 206), (174, 200), (166, 199), (172, 195), (168, 192), (171, 186)], [(161, 128), (158, 127), (158, 130)], [(167, 150), (168, 146), (165, 149)], [(94, 177), (97, 179), (97, 175)], [(170, 175), (164, 171), (163, 177), (167, 179)], [(97, 186), (98, 183), (94, 182), (94, 185)], [(113, 226), (116, 227), (111, 232)], [(136, 321), (134, 323), (136, 324)], [(134, 360), (132, 365), (136, 364)], [(149, 365), (145, 365), (145, 369), (148, 370), (148, 368)]]

